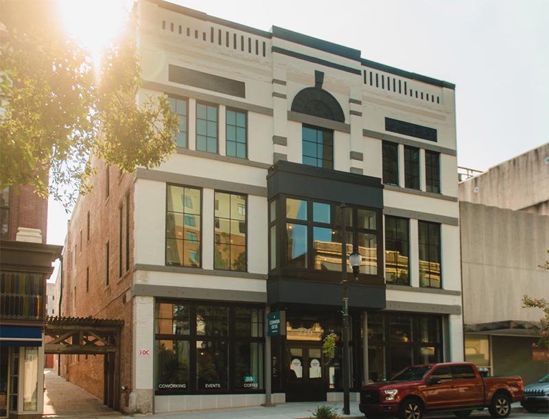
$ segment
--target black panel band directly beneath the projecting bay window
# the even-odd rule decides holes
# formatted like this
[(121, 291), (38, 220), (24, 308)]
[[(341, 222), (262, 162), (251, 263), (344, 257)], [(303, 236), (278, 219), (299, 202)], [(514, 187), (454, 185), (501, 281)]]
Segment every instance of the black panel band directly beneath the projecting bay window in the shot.
[[(342, 286), (327, 282), (276, 279), (267, 282), (269, 304), (341, 306)], [(349, 284), (349, 307), (385, 308), (385, 286)]]

